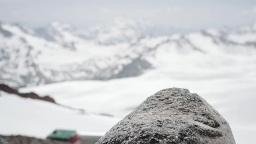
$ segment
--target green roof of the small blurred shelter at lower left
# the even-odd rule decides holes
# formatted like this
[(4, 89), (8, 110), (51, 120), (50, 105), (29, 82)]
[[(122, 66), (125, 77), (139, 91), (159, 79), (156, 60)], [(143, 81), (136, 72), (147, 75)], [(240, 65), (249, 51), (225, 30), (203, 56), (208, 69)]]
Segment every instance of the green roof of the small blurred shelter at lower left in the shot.
[(58, 140), (69, 140), (76, 135), (76, 131), (70, 130), (55, 130), (49, 136), (48, 139), (58, 139)]

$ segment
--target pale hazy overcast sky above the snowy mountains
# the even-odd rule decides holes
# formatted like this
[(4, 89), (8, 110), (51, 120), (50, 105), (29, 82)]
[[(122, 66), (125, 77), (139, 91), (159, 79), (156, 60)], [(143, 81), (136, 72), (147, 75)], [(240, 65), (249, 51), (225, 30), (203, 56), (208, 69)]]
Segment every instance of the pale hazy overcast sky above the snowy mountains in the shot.
[(61, 21), (83, 29), (122, 15), (164, 27), (236, 27), (256, 22), (256, 0), (0, 0), (0, 21), (31, 27)]

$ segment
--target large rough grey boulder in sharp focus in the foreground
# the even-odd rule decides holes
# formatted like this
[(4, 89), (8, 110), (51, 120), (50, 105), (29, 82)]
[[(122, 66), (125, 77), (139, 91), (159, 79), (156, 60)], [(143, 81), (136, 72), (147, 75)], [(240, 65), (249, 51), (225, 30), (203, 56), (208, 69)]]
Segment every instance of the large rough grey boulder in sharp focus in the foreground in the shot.
[(235, 144), (226, 120), (187, 89), (147, 98), (96, 144)]

